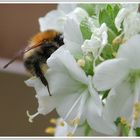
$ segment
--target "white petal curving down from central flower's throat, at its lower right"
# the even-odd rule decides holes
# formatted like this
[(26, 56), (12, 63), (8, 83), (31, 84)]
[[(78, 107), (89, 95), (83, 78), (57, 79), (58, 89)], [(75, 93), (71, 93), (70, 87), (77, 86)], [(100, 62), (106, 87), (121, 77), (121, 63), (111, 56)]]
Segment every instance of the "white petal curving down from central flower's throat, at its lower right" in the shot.
[(92, 129), (97, 132), (113, 135), (116, 132), (116, 128), (112, 124), (108, 124), (107, 120), (102, 117), (102, 101), (98, 93), (92, 87), (91, 77), (89, 77), (89, 91), (91, 96), (87, 100), (86, 116), (87, 121)]

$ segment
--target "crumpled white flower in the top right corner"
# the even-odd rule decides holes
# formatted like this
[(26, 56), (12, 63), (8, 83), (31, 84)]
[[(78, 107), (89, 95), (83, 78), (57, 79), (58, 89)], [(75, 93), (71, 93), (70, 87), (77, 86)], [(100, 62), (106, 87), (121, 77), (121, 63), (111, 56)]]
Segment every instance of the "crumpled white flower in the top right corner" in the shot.
[(138, 4), (123, 5), (123, 8), (115, 18), (115, 25), (118, 31), (122, 30), (122, 22), (124, 28), (123, 34), (126, 40), (140, 32), (140, 14), (138, 13)]

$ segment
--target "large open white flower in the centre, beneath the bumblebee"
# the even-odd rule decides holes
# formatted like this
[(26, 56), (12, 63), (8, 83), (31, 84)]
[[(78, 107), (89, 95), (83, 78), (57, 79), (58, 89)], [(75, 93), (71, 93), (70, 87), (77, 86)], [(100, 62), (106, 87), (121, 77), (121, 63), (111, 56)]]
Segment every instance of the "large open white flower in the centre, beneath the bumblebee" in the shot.
[(71, 126), (69, 133), (74, 134), (79, 123), (82, 124), (85, 119), (91, 128), (96, 130), (97, 127), (97, 131), (108, 130), (100, 123), (102, 102), (92, 86), (92, 77), (86, 76), (70, 52), (61, 47), (52, 54), (47, 64), (49, 69), (45, 77), (52, 96), (49, 96), (39, 79), (26, 81), (28, 86), (35, 88), (39, 102), (38, 112), (35, 115), (28, 114), (29, 120), (56, 108), (57, 113)]

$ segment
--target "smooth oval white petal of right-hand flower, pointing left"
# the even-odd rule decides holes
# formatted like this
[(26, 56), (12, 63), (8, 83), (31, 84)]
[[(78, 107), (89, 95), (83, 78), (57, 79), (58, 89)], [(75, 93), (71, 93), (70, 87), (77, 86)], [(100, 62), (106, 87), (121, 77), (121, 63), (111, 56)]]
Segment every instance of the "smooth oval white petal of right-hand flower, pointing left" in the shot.
[(116, 86), (128, 74), (128, 63), (125, 59), (107, 60), (95, 68), (93, 83), (100, 90)]

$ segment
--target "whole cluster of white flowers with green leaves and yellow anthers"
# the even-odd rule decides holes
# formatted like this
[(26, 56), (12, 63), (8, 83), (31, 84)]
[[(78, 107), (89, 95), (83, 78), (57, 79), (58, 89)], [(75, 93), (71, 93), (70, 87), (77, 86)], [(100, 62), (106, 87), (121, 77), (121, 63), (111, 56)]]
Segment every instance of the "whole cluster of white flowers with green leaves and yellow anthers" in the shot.
[[(50, 22), (51, 21), (51, 22)], [(38, 114), (52, 110), (55, 136), (140, 135), (140, 14), (138, 4), (61, 4), (39, 18), (64, 45), (46, 62), (50, 92), (37, 77)]]

